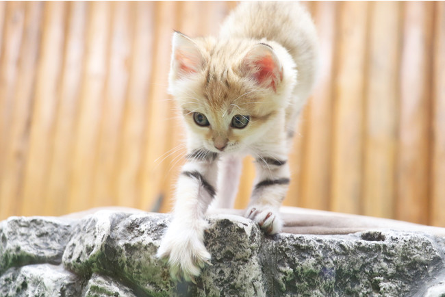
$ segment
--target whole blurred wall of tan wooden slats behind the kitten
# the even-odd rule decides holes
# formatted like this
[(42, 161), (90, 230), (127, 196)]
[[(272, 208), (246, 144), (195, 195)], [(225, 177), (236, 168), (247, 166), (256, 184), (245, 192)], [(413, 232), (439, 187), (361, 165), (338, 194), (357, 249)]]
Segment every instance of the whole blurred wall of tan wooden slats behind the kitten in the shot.
[[(317, 2), (320, 83), (285, 205), (445, 227), (444, 2)], [(233, 2), (0, 2), (0, 220), (101, 205), (168, 211), (183, 129), (173, 29)], [(237, 207), (248, 201), (245, 161)]]

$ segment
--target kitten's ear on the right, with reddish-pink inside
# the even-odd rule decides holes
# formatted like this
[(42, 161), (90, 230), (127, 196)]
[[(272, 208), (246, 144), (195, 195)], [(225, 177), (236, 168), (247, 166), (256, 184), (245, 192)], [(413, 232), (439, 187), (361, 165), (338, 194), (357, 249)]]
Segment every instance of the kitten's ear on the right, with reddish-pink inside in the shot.
[(243, 58), (240, 67), (244, 76), (255, 79), (259, 86), (275, 92), (283, 79), (283, 68), (272, 47), (257, 44)]

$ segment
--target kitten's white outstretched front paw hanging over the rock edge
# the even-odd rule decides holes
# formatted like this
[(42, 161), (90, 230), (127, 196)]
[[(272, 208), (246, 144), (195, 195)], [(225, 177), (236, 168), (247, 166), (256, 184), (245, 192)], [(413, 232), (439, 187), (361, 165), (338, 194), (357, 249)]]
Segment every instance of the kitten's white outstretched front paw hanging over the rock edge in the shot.
[(194, 281), (205, 263), (210, 263), (210, 254), (203, 244), (202, 232), (170, 226), (157, 250), (157, 257), (165, 259), (174, 280), (183, 278)]

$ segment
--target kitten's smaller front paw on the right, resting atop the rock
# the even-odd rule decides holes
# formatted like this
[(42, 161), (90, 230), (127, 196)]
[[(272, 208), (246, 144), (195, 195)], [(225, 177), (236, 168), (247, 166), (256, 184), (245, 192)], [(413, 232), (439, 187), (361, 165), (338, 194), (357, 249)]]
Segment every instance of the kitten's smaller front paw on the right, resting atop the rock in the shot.
[(283, 228), (279, 212), (268, 205), (253, 205), (246, 211), (246, 218), (256, 222), (266, 234), (276, 234)]

